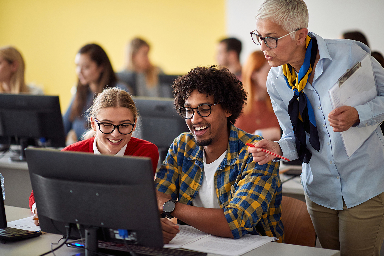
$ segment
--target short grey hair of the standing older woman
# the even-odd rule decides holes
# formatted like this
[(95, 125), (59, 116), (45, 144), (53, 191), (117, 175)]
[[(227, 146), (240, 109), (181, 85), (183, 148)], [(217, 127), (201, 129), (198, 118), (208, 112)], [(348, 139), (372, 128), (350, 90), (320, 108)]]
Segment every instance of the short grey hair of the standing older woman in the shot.
[[(298, 28), (308, 28), (308, 8), (303, 0), (265, 0), (255, 19), (270, 20), (290, 33)], [(290, 36), (294, 39), (295, 33)]]

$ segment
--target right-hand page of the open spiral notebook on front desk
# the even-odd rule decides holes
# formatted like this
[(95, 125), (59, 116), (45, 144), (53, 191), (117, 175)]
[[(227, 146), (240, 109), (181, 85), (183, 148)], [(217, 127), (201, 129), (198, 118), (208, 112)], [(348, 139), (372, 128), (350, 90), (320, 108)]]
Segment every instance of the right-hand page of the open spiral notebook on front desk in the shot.
[(240, 239), (208, 236), (183, 246), (183, 249), (224, 256), (238, 256), (252, 251), (266, 243), (278, 240), (268, 236), (245, 235)]

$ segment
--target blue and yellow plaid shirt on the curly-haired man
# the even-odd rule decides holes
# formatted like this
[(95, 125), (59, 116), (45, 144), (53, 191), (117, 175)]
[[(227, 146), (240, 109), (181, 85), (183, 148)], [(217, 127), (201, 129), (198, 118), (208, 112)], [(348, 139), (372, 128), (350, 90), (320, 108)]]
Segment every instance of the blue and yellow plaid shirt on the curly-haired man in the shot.
[[(218, 203), (235, 239), (248, 233), (283, 242), (279, 163), (257, 164), (245, 145), (260, 139), (231, 125), (227, 156), (215, 173)], [(157, 172), (156, 189), (191, 205), (203, 180), (203, 150), (191, 133), (177, 137)]]

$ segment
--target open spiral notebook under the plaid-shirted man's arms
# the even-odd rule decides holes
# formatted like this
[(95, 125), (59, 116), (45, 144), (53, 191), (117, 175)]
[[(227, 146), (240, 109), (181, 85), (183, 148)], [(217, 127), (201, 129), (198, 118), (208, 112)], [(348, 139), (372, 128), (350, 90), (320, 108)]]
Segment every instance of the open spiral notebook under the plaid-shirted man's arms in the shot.
[(278, 240), (269, 236), (245, 235), (240, 239), (223, 238), (204, 233), (192, 226), (179, 225), (180, 232), (166, 248), (182, 248), (202, 253), (239, 256), (266, 243)]

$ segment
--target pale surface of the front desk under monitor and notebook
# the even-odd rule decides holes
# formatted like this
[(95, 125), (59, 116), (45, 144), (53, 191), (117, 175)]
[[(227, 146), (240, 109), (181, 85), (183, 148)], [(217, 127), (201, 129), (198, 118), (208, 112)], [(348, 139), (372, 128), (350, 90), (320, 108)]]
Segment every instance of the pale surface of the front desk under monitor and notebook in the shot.
[[(19, 208), (14, 206), (5, 206), (7, 213), (7, 221), (19, 220), (28, 216), (33, 216), (29, 209)], [(17, 242), (7, 242), (6, 244), (0, 244), (0, 255), (7, 256), (22, 256), (22, 255), (40, 255), (50, 251), (51, 243), (57, 243), (61, 238), (60, 235), (43, 234), (41, 236), (30, 238)], [(63, 246), (58, 249), (56, 255), (70, 256), (81, 252), (79, 249), (68, 248)], [(215, 256), (214, 254), (208, 254), (209, 256)], [(306, 246), (298, 246), (292, 244), (280, 244), (280, 243), (268, 243), (260, 248), (250, 251), (245, 256), (257, 256), (257, 255), (311, 255), (311, 256), (338, 256), (339, 251), (333, 251), (328, 249), (320, 249)]]

